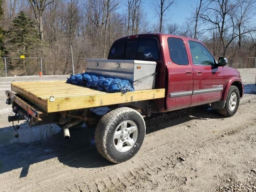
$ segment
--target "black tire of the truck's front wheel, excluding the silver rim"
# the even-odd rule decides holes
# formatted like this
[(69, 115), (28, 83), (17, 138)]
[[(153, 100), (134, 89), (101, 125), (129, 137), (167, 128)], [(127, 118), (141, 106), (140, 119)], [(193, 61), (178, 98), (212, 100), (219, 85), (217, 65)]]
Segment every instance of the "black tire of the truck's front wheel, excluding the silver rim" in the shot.
[[(236, 108), (233, 111), (231, 111), (229, 109), (229, 100), (230, 100), (231, 94), (234, 93), (234, 92), (236, 93), (237, 102), (236, 102)], [(227, 95), (227, 98), (226, 98), (226, 103), (225, 103), (224, 109), (218, 110), (218, 113), (223, 115), (223, 116), (226, 116), (226, 117), (233, 116), (236, 113), (237, 109), (238, 109), (239, 102), (240, 102), (239, 89), (236, 86), (232, 85), (232, 86), (230, 86), (230, 89), (228, 90), (228, 95)]]

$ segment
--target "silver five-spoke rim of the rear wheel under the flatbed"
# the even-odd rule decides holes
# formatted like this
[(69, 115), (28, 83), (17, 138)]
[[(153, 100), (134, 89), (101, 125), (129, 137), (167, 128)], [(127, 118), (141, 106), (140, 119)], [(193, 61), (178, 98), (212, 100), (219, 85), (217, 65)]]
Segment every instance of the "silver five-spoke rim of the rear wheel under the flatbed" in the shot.
[(126, 152), (136, 143), (138, 137), (138, 127), (130, 120), (121, 122), (114, 132), (113, 143), (116, 150)]

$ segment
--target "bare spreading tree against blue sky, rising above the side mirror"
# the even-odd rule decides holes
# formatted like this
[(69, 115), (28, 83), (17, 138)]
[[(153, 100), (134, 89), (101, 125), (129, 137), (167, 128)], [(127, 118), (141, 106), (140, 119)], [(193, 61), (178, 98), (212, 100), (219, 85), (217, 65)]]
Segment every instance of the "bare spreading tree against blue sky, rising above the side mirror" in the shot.
[[(209, 0), (204, 10), (199, 14), (205, 23), (212, 26), (208, 27), (205, 31), (217, 30), (218, 34), (214, 38), (218, 38), (221, 41), (223, 56), (226, 56), (227, 48), (236, 38), (255, 31), (255, 28), (244, 28), (243, 31), (240, 30), (238, 32), (242, 23), (244, 24), (248, 21), (245, 19), (246, 17), (241, 18), (243, 14), (240, 14), (240, 17), (236, 16), (239, 6), (239, 1), (235, 0)], [(243, 12), (241, 10), (243, 9), (240, 9), (240, 12)]]

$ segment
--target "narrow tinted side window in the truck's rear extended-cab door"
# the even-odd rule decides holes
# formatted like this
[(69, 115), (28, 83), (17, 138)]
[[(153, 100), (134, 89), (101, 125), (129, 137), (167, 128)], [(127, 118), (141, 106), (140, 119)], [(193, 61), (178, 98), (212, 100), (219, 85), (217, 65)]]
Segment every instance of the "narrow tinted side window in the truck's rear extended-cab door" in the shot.
[(185, 44), (180, 38), (168, 38), (171, 60), (178, 65), (188, 65), (188, 55)]

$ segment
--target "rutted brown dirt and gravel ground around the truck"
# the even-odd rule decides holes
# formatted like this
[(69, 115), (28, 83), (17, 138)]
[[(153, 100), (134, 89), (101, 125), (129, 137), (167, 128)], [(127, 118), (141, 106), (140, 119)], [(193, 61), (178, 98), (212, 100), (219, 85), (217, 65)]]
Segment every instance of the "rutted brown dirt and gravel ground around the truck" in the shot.
[[(94, 129), (77, 128), (0, 147), (0, 191), (256, 192), (256, 69), (240, 70), (244, 98), (233, 117), (208, 106), (146, 119), (140, 152), (112, 164), (96, 151)], [(0, 127), (8, 128), (0, 80)], [(182, 160), (181, 160), (182, 159)]]

